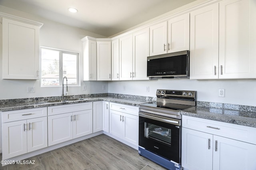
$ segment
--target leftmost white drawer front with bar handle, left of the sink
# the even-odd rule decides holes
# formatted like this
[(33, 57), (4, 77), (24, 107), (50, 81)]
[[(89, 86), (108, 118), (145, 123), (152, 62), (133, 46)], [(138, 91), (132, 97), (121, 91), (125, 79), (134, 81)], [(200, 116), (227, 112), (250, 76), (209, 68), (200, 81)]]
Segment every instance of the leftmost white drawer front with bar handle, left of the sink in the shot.
[(20, 121), (47, 116), (47, 107), (2, 112), (2, 122)]

